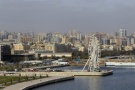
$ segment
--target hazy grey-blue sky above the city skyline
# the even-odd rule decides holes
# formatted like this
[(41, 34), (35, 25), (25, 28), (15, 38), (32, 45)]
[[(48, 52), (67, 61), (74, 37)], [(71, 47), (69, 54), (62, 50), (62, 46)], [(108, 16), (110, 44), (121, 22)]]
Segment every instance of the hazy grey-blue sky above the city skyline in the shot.
[(0, 0), (0, 30), (135, 32), (135, 0)]

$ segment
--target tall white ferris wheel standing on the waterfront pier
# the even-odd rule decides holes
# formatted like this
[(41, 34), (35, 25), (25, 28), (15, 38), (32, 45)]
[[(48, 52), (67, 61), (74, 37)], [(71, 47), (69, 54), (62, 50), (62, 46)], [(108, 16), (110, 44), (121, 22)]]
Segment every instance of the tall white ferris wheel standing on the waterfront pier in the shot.
[(87, 65), (88, 65), (87, 70), (89, 72), (99, 71), (99, 58), (101, 56), (101, 50), (100, 50), (100, 41), (97, 35), (95, 34), (93, 34), (89, 40), (88, 56), (89, 56), (89, 59), (87, 60), (82, 71), (84, 71)]

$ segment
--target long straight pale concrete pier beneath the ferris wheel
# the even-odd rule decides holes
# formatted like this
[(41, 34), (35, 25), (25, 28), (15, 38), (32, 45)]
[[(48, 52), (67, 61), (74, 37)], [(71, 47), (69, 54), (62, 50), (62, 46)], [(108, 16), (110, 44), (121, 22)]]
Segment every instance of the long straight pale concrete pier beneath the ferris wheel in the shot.
[(18, 72), (21, 76), (107, 76), (113, 74), (113, 71), (101, 71), (101, 72), (77, 72), (77, 71), (65, 71), (65, 72)]

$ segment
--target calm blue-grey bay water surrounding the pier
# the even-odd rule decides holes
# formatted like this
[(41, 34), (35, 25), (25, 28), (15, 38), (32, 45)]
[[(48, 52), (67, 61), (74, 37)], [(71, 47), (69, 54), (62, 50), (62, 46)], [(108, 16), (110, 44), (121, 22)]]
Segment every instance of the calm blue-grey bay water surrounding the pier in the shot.
[[(64, 67), (64, 69), (82, 67)], [(135, 90), (135, 68), (110, 67), (114, 74), (110, 76), (80, 76), (75, 80), (59, 82), (35, 88), (33, 90)]]

